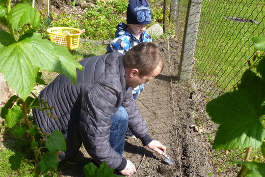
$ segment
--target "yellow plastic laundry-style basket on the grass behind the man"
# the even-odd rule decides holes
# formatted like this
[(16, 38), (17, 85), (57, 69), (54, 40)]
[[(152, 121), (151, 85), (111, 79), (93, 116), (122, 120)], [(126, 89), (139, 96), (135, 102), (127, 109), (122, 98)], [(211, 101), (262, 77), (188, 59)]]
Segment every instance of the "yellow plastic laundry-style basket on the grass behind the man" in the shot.
[[(70, 34), (66, 34), (68, 31)], [(56, 44), (66, 46), (69, 50), (79, 47), (80, 33), (77, 33), (80, 29), (69, 27), (53, 27), (47, 29), (50, 39)]]

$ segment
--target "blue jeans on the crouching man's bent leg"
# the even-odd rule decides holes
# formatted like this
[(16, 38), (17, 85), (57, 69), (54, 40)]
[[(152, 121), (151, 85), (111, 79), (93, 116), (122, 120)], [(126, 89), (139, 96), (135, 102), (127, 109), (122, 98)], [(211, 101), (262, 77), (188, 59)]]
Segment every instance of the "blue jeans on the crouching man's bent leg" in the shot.
[(116, 113), (114, 113), (111, 117), (111, 123), (109, 143), (122, 156), (125, 144), (125, 132), (129, 123), (129, 116), (124, 107), (120, 106)]

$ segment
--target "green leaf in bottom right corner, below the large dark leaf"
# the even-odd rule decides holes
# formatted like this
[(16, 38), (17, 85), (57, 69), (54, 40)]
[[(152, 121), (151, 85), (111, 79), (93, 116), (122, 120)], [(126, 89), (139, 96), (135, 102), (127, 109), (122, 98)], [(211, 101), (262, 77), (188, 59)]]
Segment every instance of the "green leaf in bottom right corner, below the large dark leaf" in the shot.
[(233, 161), (234, 164), (242, 164), (247, 167), (247, 177), (265, 177), (265, 163), (247, 161)]

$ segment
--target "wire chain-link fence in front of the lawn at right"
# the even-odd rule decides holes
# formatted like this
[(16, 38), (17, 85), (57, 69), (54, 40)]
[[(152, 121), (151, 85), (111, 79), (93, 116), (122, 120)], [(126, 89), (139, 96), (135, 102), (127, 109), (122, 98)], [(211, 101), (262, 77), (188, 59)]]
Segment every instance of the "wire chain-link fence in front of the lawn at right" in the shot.
[[(173, 7), (177, 9), (176, 37), (182, 41), (188, 0), (177, 0), (174, 4), (177, 4), (176, 8)], [(203, 0), (198, 15), (200, 22), (192, 63), (191, 96), (197, 104), (194, 118), (198, 125), (207, 129), (204, 138), (211, 144), (217, 125), (208, 117), (206, 104), (218, 95), (232, 91), (240, 82), (248, 67), (247, 60), (252, 60), (255, 53), (251, 39), (265, 36), (265, 0)], [(243, 158), (240, 150), (228, 154), (228, 151), (214, 151), (209, 147), (212, 165), (220, 176), (235, 175), (236, 166), (228, 168), (224, 165)]]

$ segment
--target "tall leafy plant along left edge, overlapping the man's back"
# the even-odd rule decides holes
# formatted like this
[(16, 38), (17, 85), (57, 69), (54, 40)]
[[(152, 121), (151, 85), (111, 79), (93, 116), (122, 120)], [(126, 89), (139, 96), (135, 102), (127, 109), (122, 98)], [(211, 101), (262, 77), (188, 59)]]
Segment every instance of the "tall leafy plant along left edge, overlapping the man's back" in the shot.
[[(47, 113), (53, 109), (34, 94), (31, 97), (30, 93), (35, 83), (45, 84), (39, 70), (64, 74), (75, 84), (77, 68), (81, 70), (82, 66), (66, 47), (42, 39), (35, 33), (40, 27), (40, 16), (31, 6), (17, 4), (11, 9), (11, 0), (0, 0), (0, 23), (9, 31), (0, 30), (0, 73), (19, 95), (7, 101), (0, 116), (17, 138), (30, 137), (34, 159), (28, 162), (35, 165), (35, 176), (50, 174), (50, 170), (55, 170), (59, 164), (59, 151), (66, 150), (65, 140), (60, 131), (55, 130), (52, 134), (42, 132), (29, 120), (28, 114), (33, 108), (47, 110)], [(43, 106), (40, 107), (39, 103)], [(41, 139), (36, 140), (37, 136)], [(9, 158), (12, 170), (19, 170), (22, 158), (21, 152)]]

